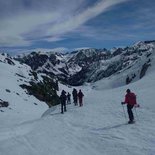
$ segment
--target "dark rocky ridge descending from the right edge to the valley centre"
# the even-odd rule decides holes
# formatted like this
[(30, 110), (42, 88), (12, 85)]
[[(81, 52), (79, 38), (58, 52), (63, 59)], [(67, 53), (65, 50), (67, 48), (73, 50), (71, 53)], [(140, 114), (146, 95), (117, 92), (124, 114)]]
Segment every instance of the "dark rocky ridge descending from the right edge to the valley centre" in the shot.
[[(123, 85), (134, 82), (145, 75), (152, 63), (152, 54), (154, 52), (154, 41), (139, 42), (131, 47), (115, 49), (113, 52), (106, 51), (105, 55), (103, 57), (99, 56), (97, 61), (93, 59), (88, 63), (88, 66), (84, 65), (85, 67), (71, 76), (69, 81), (75, 84), (96, 82), (123, 73)], [(75, 64), (77, 62), (76, 60)], [(85, 60), (84, 63), (86, 64), (87, 61)]]

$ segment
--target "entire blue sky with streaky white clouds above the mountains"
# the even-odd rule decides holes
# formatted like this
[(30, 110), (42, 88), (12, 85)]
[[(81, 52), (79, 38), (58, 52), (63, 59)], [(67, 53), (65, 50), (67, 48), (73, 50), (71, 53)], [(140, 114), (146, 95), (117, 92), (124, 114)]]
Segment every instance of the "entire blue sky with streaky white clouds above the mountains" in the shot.
[(0, 0), (0, 51), (155, 39), (155, 0)]

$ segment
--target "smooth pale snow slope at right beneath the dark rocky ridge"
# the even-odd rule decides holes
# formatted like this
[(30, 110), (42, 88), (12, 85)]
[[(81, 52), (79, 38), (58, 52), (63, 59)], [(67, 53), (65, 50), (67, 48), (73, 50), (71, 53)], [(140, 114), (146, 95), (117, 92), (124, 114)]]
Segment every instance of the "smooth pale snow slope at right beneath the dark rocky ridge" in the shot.
[[(144, 75), (147, 75), (148, 72), (154, 68), (154, 66), (155, 49), (152, 48), (151, 50), (144, 53), (139, 59), (137, 59), (136, 62), (132, 62), (127, 68), (122, 69), (110, 77), (92, 83), (92, 87), (97, 90), (121, 87), (127, 84), (127, 77), (131, 79), (131, 82), (136, 82)], [(145, 68), (146, 71), (144, 71)]]

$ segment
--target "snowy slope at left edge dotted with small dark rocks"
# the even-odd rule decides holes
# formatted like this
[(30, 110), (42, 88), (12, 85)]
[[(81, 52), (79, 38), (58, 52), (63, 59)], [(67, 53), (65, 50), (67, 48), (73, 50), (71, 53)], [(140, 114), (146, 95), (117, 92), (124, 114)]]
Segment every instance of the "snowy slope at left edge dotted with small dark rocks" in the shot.
[(0, 99), (9, 103), (8, 107), (0, 108), (1, 127), (36, 119), (47, 108), (19, 86), (34, 79), (31, 71), (29, 66), (0, 54)]

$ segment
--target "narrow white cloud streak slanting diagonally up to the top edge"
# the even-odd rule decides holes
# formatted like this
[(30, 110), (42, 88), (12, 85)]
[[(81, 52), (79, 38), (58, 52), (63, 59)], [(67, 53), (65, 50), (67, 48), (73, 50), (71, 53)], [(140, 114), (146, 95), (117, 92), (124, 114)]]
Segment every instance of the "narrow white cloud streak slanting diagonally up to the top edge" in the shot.
[(97, 15), (106, 12), (110, 7), (119, 4), (121, 2), (125, 2), (127, 0), (102, 0), (98, 2), (95, 6), (92, 6), (80, 14), (74, 15), (70, 17), (68, 20), (62, 23), (55, 24), (49, 29), (49, 34), (63, 34), (66, 32), (70, 32), (88, 20), (96, 17)]

